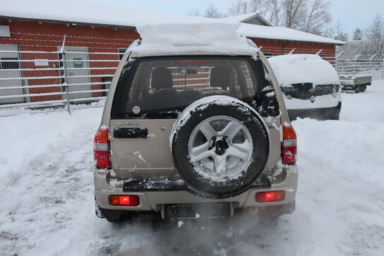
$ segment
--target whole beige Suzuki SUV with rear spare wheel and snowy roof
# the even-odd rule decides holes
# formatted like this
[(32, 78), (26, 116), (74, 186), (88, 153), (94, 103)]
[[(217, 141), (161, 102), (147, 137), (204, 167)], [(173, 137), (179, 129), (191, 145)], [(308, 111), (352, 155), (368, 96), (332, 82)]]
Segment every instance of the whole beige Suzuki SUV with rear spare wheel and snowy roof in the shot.
[(95, 135), (98, 217), (294, 211), (296, 133), (267, 59), (237, 27), (138, 26)]

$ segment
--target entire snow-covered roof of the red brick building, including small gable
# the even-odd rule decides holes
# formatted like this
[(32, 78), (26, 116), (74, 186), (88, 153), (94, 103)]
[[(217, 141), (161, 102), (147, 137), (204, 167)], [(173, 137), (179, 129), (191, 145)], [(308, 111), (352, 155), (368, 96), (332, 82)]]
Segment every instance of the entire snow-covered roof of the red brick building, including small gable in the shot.
[[(239, 35), (260, 39), (291, 40), (299, 42), (317, 42), (324, 44), (344, 44), (342, 41), (320, 37), (289, 28), (274, 27), (258, 13), (223, 19), (187, 16), (176, 13), (149, 11), (121, 6), (109, 6), (95, 2), (58, 1), (58, 0), (13, 0), (1, 5), (0, 17), (23, 18), (29, 20), (56, 21), (66, 23), (84, 23), (91, 25), (111, 25), (134, 28), (139, 24), (150, 23), (209, 23), (241, 22)], [(260, 18), (261, 17), (261, 18)], [(244, 22), (261, 20), (266, 25), (254, 25)], [(266, 22), (264, 22), (266, 21)], [(269, 23), (269, 24), (268, 24)]]

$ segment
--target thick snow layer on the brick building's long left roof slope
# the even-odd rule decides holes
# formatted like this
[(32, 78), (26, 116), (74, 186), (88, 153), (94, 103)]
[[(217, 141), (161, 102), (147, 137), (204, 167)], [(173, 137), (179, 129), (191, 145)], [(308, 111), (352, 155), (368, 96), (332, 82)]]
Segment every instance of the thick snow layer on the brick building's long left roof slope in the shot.
[(95, 1), (73, 0), (13, 0), (1, 4), (0, 16), (38, 20), (60, 20), (73, 23), (91, 23), (136, 27), (140, 23), (209, 22), (210, 18), (176, 13), (149, 11), (123, 6), (111, 6)]

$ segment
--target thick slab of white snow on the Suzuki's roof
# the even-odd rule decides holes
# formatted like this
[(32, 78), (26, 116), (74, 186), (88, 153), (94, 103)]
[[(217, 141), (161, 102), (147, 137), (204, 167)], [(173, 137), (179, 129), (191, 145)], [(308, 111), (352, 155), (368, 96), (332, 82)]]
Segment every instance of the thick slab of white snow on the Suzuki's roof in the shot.
[(162, 23), (137, 25), (143, 39), (131, 47), (135, 55), (200, 51), (254, 55), (257, 49), (236, 30), (240, 23)]

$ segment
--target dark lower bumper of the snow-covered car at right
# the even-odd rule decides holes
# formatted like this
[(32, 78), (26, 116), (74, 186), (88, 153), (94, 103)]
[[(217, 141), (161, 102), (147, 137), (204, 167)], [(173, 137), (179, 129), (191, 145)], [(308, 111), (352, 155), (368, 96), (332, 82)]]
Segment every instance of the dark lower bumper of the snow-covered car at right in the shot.
[(296, 118), (315, 118), (320, 120), (334, 119), (340, 115), (342, 108), (342, 102), (339, 102), (337, 106), (330, 108), (320, 109), (288, 109), (289, 119), (294, 120)]

